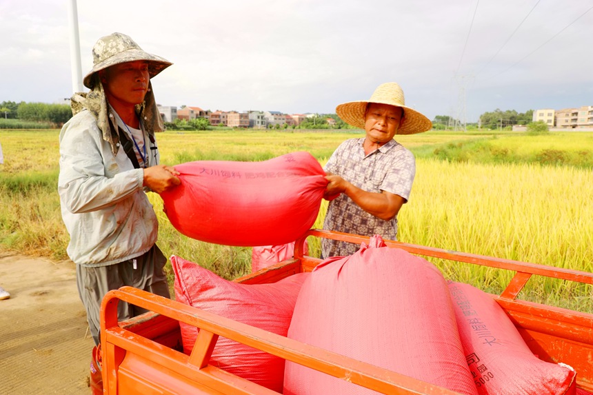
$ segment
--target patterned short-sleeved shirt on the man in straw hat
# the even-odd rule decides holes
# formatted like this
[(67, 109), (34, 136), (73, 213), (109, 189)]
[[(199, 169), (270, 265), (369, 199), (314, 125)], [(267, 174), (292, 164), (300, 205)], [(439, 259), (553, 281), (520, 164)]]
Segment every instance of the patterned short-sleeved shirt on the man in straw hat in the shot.
[[(365, 155), (365, 138), (348, 139), (341, 143), (325, 165), (325, 172), (341, 176), (356, 187), (368, 192), (381, 191), (397, 194), (405, 201), (410, 198), (416, 161), (414, 154), (395, 140), (378, 150)], [(380, 234), (383, 239), (396, 240), (397, 217), (385, 221), (356, 205), (345, 194), (341, 194), (328, 205), (323, 228), (372, 236)], [(323, 239), (323, 258), (354, 254), (360, 245)]]

